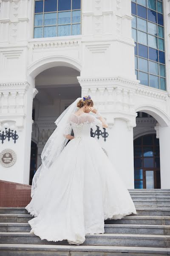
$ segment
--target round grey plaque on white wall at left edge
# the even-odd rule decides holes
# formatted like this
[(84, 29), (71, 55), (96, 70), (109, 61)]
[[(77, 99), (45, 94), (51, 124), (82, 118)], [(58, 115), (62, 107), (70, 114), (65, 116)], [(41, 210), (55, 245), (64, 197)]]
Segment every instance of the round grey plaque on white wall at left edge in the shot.
[(17, 159), (17, 155), (12, 149), (4, 149), (0, 152), (0, 163), (3, 167), (10, 167), (12, 166)]

